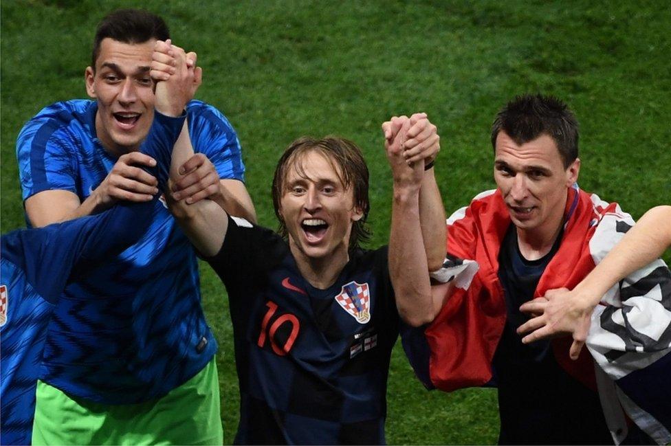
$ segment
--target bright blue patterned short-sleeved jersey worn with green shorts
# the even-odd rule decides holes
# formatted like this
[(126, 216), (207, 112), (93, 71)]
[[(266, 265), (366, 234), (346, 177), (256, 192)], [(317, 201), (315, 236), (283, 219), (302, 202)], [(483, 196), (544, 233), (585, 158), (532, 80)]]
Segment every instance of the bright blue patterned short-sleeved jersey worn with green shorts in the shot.
[[(46, 107), (19, 134), (23, 199), (69, 190), (80, 201), (117, 161), (96, 135), (96, 102)], [(224, 179), (243, 180), (236, 133), (219, 111), (186, 107), (196, 152)], [(41, 379), (76, 397), (106, 404), (162, 397), (203, 369), (217, 342), (201, 308), (197, 259), (188, 239), (156, 201), (137, 243), (63, 292), (49, 324)]]

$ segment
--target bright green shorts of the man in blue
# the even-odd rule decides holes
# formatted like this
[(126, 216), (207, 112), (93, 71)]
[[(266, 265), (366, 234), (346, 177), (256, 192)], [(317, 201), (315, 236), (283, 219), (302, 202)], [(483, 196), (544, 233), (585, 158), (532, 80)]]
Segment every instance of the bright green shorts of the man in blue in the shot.
[(107, 405), (37, 385), (33, 445), (221, 445), (221, 401), (214, 358), (165, 397)]

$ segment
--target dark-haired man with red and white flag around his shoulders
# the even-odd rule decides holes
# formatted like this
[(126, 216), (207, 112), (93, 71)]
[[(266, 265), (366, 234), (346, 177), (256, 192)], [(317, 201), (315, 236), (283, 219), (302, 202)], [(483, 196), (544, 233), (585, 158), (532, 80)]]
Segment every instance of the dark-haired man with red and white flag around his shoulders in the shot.
[[(577, 188), (577, 139), (573, 113), (554, 98), (522, 96), (498, 113), (498, 188), (448, 219), (448, 260), (434, 274), (445, 283), (433, 287), (432, 308), (417, 306), (433, 320), (423, 331), (430, 357), (410, 343), (408, 355), (427, 386), (496, 385), (501, 444), (668, 443), (671, 275), (661, 260), (601, 297), (591, 355), (571, 361), (570, 338), (524, 343), (516, 333), (528, 320), (522, 304), (575, 287), (634, 224)], [(637, 386), (641, 377), (654, 385)], [(651, 388), (659, 393), (641, 397)]]

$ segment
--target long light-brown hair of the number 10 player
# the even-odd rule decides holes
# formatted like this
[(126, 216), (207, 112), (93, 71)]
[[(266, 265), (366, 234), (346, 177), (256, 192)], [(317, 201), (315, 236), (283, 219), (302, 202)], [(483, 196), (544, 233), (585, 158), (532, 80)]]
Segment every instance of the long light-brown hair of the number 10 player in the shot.
[(282, 157), (277, 161), (275, 175), (272, 184), (272, 199), (275, 208), (275, 215), (279, 221), (278, 232), (287, 238), (287, 226), (280, 214), (280, 200), (285, 192), (286, 179), (289, 168), (295, 168), (298, 174), (305, 177), (300, 160), (309, 152), (317, 152), (331, 163), (336, 170), (340, 182), (345, 188), (351, 186), (354, 196), (354, 205), (363, 216), (352, 225), (352, 232), (349, 236), (349, 251), (360, 247), (361, 243), (369, 241), (371, 231), (366, 225), (371, 203), (368, 196), (369, 172), (366, 161), (360, 148), (353, 142), (341, 137), (327, 136), (321, 140), (311, 137), (300, 137), (298, 140), (289, 144)]

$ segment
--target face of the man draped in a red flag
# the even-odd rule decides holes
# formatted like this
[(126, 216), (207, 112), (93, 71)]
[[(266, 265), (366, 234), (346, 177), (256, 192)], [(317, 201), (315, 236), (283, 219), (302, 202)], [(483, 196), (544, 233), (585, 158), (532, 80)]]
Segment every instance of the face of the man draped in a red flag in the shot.
[(494, 179), (518, 231), (555, 234), (567, 190), (577, 181), (580, 159), (564, 168), (549, 135), (518, 146), (503, 131), (496, 137), (495, 152)]

